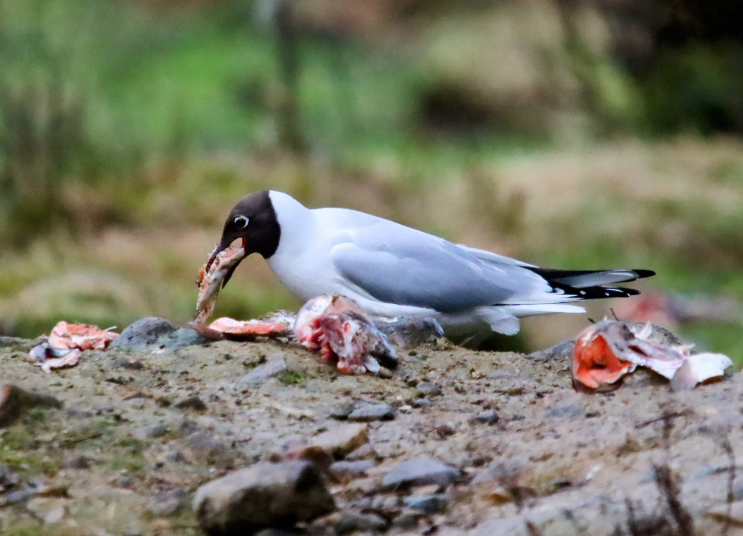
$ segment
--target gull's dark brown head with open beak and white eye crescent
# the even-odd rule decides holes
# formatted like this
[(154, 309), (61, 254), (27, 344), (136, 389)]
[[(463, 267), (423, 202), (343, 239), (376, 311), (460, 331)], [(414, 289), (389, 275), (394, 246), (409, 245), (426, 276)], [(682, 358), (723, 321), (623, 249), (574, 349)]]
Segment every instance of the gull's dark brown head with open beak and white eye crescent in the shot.
[[(227, 216), (222, 230), (222, 239), (207, 262), (207, 270), (217, 255), (229, 248), (236, 240), (241, 240), (245, 256), (257, 253), (268, 259), (279, 248), (280, 237), (281, 226), (276, 218), (276, 210), (271, 202), (270, 193), (268, 191), (249, 193), (238, 201), (230, 212), (230, 216)], [(234, 265), (224, 278), (223, 287), (227, 285), (227, 281), (230, 280), (239, 264), (238, 262)]]

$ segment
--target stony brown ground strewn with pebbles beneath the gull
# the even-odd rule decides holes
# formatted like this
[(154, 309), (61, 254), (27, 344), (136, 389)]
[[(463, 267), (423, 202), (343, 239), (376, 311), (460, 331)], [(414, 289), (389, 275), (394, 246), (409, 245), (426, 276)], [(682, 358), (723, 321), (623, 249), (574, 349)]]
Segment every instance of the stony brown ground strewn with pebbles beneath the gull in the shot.
[(242, 515), (309, 535), (743, 534), (743, 375), (583, 395), (567, 361), (445, 340), (379, 377), (181, 335), (51, 374), (0, 338), (1, 533), (200, 535), (197, 497), (215, 532)]

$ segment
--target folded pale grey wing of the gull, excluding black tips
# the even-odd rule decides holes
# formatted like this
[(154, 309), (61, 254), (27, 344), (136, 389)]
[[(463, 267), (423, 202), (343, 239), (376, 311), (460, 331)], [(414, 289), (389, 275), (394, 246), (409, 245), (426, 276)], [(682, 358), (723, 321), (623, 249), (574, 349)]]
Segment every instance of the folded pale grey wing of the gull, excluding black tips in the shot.
[(441, 312), (513, 303), (552, 290), (526, 268), (493, 267), (451, 242), (392, 222), (348, 231), (331, 259), (343, 277), (377, 300)]

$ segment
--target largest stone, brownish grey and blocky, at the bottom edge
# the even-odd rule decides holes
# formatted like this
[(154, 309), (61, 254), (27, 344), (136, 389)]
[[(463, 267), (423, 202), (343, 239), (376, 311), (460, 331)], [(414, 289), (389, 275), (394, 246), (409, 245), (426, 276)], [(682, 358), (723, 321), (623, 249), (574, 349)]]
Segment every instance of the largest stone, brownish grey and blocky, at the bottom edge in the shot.
[(204, 532), (230, 536), (311, 521), (335, 503), (307, 462), (262, 462), (198, 488), (194, 508)]

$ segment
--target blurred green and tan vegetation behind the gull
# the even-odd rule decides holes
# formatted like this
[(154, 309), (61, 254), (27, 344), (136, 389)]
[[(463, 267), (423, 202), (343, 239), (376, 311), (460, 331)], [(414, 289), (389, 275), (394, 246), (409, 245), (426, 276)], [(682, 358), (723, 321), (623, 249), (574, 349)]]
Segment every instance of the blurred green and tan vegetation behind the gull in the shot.
[[(589, 315), (743, 364), (742, 135), (736, 0), (0, 0), (0, 335), (186, 323), (230, 207), (272, 188), (652, 268)], [(218, 314), (298, 306), (260, 259), (233, 281)]]

